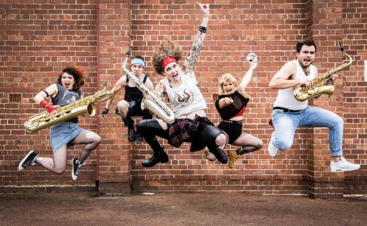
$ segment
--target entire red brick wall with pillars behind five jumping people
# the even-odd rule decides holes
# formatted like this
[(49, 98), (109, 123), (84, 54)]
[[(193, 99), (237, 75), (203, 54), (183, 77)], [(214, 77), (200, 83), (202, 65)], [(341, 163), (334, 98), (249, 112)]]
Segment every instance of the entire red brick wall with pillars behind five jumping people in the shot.
[[(334, 95), (331, 98), (323, 96), (311, 104), (332, 110), (345, 119), (345, 157), (364, 164), (364, 128), (367, 123), (363, 120), (366, 116), (363, 92), (366, 83), (362, 82), (362, 60), (366, 60), (367, 55), (365, 3), (360, 0), (332, 3), (313, 0), (202, 2), (210, 4), (211, 18), (195, 74), (208, 104), (207, 116), (214, 124), (220, 122), (211, 99), (211, 93), (218, 91), (218, 78), (230, 72), (240, 79), (248, 70), (246, 56), (255, 52), (259, 65), (246, 90), (252, 98), (244, 114), (243, 131), (261, 139), (263, 149), (241, 156), (230, 170), (217, 161), (207, 161), (204, 151), (190, 153), (189, 144), (175, 149), (160, 140), (170, 161), (143, 168), (140, 163), (150, 157), (149, 146), (142, 142), (127, 142), (127, 129), (120, 118), (110, 113), (107, 119), (100, 120), (99, 127), (102, 138), (99, 192), (104, 195), (126, 194), (130, 188), (132, 192), (260, 191), (308, 193), (319, 198), (365, 193), (364, 165), (353, 174), (328, 172), (327, 129), (299, 128), (291, 149), (273, 158), (267, 153), (273, 132), (267, 122), (277, 96), (276, 90), (269, 89), (269, 81), (286, 61), (295, 59), (296, 40), (312, 37), (318, 45), (315, 65), (320, 68), (319, 72), (347, 62), (336, 47), (337, 41), (342, 42), (355, 60), (350, 69), (340, 73)], [(202, 20), (200, 10), (194, 4), (192, 0), (100, 1), (99, 72), (100, 81), (107, 80), (107, 89), (111, 89), (123, 74), (121, 64), (130, 47), (133, 55), (145, 57), (145, 70), (154, 84), (162, 79), (151, 73), (151, 63), (148, 63), (154, 47), (164, 40), (172, 40), (182, 46), (186, 56)], [(76, 188), (74, 185), (92, 189), (88, 186), (95, 181), (95, 155), (88, 159), (88, 166), (82, 168), (76, 182), (71, 180), (70, 166), (61, 176), (40, 166), (24, 172), (16, 171), (16, 167), (31, 149), (43, 156), (51, 156), (48, 130), (28, 134), (22, 124), (39, 112), (40, 107), (32, 97), (53, 82), (52, 78), (60, 68), (71, 63), (85, 67), (89, 76), (82, 91), (85, 96), (96, 91), (96, 2), (60, 1), (52, 5), (36, 0), (24, 3), (5, 1), (0, 6), (0, 104), (5, 109), (0, 113), (3, 129), (0, 132), (3, 153), (0, 156), (0, 187), (3, 191), (15, 191), (17, 188), (13, 186), (31, 184), (47, 185), (47, 189), (60, 189), (58, 185), (68, 185), (70, 190)], [(8, 103), (8, 92), (23, 93), (23, 103)], [(123, 90), (116, 94), (110, 111), (123, 95)], [(104, 103), (100, 109), (103, 107)], [(82, 120), (81, 127), (96, 129), (96, 119)], [(237, 148), (227, 146), (227, 149)], [(76, 147), (70, 154), (77, 156), (79, 150), (80, 147)], [(72, 156), (68, 159), (71, 160)], [(18, 190), (23, 187), (26, 186), (18, 186)], [(36, 188), (33, 186), (32, 189)]]

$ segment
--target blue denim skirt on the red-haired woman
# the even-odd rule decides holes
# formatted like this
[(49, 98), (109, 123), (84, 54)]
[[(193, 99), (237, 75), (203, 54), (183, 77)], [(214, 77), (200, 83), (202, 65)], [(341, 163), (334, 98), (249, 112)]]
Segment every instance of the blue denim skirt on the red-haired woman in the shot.
[[(62, 122), (50, 127), (50, 140), (53, 153), (73, 140), (84, 129), (79, 128), (76, 123)], [(68, 148), (73, 145), (68, 145)]]

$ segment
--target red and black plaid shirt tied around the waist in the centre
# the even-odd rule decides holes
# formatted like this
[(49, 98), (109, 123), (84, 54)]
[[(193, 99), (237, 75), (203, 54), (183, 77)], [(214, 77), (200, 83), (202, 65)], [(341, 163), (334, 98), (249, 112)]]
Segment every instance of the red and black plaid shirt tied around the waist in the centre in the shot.
[[(197, 128), (201, 124), (208, 124), (214, 126), (207, 117), (200, 117), (195, 115), (195, 119), (175, 119), (175, 121), (169, 125), (169, 139), (168, 144), (173, 147), (179, 148), (185, 140), (191, 138)], [(206, 144), (198, 144), (197, 142), (191, 143), (190, 151), (197, 152), (203, 150)]]

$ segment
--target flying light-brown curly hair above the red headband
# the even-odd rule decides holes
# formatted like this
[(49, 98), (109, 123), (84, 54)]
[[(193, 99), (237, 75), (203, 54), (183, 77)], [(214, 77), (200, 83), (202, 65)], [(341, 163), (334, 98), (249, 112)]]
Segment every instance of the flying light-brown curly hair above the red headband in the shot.
[(154, 49), (152, 65), (155, 73), (163, 75), (161, 70), (162, 61), (167, 56), (175, 58), (178, 62), (182, 57), (181, 47), (179, 45), (174, 45), (171, 41), (168, 41), (165, 46), (161, 44), (158, 49)]

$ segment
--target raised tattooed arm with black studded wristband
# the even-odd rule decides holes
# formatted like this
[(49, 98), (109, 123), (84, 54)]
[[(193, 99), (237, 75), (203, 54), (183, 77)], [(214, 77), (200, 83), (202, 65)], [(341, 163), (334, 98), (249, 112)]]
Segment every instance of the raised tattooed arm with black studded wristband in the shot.
[(198, 60), (200, 49), (203, 46), (203, 41), (204, 41), (206, 28), (208, 26), (209, 15), (210, 15), (208, 4), (200, 4), (200, 3), (197, 3), (197, 4), (200, 7), (200, 10), (204, 16), (204, 19), (203, 19), (203, 22), (201, 23), (201, 27), (198, 31), (198, 34), (196, 35), (193, 41), (193, 46), (191, 47), (190, 54), (186, 58), (184, 65), (182, 65), (182, 69), (184, 69), (185, 73), (189, 77), (194, 76), (194, 78), (195, 78), (195, 74), (193, 73), (194, 67)]

